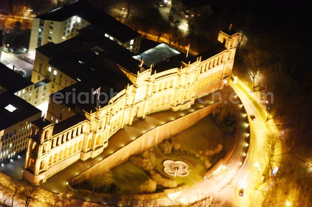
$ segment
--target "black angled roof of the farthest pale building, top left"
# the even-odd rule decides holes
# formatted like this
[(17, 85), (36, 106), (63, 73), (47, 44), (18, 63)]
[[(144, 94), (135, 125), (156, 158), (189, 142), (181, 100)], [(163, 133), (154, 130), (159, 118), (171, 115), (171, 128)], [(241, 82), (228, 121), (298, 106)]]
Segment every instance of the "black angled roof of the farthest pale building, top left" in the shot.
[[(140, 33), (131, 29), (127, 25), (106, 14), (101, 9), (93, 6), (84, 0), (76, 0), (42, 15), (36, 16), (48, 21), (65, 21), (72, 16), (79, 16), (88, 21), (91, 25), (96, 25), (104, 33), (107, 33), (121, 42), (127, 42), (135, 37), (141, 36)], [(90, 28), (90, 27), (89, 27)]]

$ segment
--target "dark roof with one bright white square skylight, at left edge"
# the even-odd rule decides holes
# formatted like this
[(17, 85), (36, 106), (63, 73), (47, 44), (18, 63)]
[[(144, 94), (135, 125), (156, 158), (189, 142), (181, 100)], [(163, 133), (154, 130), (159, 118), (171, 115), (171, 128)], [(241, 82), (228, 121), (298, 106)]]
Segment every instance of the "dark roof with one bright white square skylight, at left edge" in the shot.
[(22, 122), (37, 113), (41, 111), (24, 99), (10, 92), (0, 94), (0, 130)]

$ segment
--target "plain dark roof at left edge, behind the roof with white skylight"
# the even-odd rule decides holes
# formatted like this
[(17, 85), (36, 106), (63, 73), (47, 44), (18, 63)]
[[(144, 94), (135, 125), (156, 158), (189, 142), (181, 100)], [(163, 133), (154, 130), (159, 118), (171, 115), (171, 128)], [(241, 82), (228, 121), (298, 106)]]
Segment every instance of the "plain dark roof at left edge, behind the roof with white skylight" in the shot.
[(27, 78), (0, 63), (0, 85), (3, 88), (15, 93), (32, 84), (32, 81), (29, 81)]

